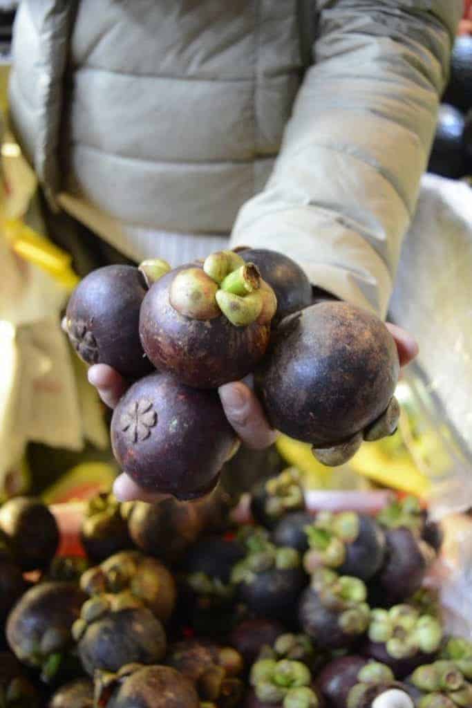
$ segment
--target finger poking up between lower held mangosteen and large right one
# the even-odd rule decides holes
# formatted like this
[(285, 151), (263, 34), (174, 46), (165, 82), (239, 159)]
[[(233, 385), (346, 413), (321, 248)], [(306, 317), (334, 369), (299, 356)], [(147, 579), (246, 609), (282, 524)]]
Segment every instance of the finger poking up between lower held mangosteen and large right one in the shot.
[(219, 396), (226, 418), (248, 447), (263, 450), (275, 442), (278, 433), (270, 428), (262, 406), (246, 384), (224, 384), (219, 387)]

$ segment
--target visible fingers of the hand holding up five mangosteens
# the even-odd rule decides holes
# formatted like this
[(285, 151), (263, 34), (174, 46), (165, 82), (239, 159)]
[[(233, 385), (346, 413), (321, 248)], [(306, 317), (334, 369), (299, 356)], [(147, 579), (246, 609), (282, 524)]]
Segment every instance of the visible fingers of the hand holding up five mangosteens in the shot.
[[(396, 342), (400, 365), (407, 365), (418, 354), (417, 343), (401, 327), (390, 323), (386, 326)], [(127, 387), (125, 379), (106, 364), (91, 366), (88, 370), (88, 381), (96, 387), (102, 401), (112, 409), (115, 408)], [(245, 445), (258, 450), (272, 445), (278, 433), (270, 428), (260, 402), (246, 383), (238, 381), (224, 384), (219, 388), (219, 396), (226, 418)], [(127, 474), (120, 474), (117, 477), (113, 491), (121, 501), (141, 499), (152, 502), (159, 501), (165, 496), (144, 492)]]

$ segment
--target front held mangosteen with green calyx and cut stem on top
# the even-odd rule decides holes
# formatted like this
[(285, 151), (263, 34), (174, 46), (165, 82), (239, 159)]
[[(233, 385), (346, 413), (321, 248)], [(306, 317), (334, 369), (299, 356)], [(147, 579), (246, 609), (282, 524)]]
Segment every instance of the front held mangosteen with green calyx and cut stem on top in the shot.
[(139, 334), (156, 369), (188, 386), (214, 389), (253, 372), (269, 344), (276, 308), (258, 268), (220, 251), (152, 285)]

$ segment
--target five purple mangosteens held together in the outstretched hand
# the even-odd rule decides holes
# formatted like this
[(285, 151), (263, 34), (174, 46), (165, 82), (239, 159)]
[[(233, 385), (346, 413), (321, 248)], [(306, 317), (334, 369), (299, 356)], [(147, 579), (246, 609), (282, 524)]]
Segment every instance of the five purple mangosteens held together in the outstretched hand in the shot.
[(65, 328), (84, 361), (129, 381), (111, 423), (120, 467), (142, 489), (183, 500), (214, 489), (238, 445), (217, 388), (250, 374), (270, 425), (311, 443), (324, 464), (391, 435), (399, 415), (391, 334), (364, 309), (312, 302), (299, 265), (263, 249), (87, 275)]

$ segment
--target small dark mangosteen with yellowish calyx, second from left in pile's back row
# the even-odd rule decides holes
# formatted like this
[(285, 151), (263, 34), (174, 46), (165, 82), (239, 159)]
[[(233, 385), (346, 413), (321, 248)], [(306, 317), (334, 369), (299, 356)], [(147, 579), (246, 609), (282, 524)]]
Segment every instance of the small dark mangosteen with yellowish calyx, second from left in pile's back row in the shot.
[(81, 543), (96, 563), (133, 547), (121, 504), (113, 494), (98, 493), (88, 501), (81, 525)]

